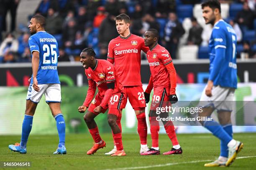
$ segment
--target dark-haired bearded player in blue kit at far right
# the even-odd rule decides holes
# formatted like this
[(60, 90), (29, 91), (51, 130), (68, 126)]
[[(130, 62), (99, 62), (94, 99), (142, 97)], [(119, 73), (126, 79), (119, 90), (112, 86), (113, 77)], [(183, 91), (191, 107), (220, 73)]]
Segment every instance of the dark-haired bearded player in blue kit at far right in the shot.
[(215, 120), (200, 121), (213, 135), (220, 139), (220, 156), (206, 167), (229, 166), (243, 143), (233, 139), (231, 124), (231, 102), (237, 88), (236, 68), (236, 33), (233, 28), (221, 19), (220, 2), (206, 0), (202, 3), (202, 16), (206, 24), (213, 25), (209, 40), (210, 77), (200, 98), (199, 117), (210, 117), (216, 109), (219, 122)]

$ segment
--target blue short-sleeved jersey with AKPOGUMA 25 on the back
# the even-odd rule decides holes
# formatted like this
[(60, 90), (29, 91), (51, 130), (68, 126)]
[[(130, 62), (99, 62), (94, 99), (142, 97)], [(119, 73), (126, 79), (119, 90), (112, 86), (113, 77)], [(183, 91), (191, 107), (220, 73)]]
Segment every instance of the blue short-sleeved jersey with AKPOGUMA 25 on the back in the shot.
[[(60, 84), (57, 71), (59, 48), (55, 37), (45, 31), (39, 31), (28, 39), (28, 44), (31, 55), (33, 51), (39, 52), (39, 67), (36, 76), (38, 84)], [(33, 78), (31, 83), (33, 83)]]

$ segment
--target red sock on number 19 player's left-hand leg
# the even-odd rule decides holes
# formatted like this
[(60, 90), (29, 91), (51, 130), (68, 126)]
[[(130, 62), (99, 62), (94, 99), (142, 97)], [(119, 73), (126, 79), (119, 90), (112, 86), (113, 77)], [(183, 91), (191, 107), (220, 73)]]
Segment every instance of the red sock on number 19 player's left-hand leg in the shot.
[(152, 147), (157, 148), (158, 145), (158, 138), (159, 138), (159, 122), (156, 120), (156, 117), (149, 117), (150, 122), (150, 132), (152, 138)]

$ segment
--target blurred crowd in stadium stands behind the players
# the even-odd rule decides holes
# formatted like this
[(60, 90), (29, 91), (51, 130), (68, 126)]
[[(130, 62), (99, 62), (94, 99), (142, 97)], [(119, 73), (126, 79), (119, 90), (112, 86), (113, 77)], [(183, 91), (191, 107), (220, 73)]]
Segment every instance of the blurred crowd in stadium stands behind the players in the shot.
[[(27, 25), (15, 25), (19, 1), (0, 0), (0, 63), (31, 62)], [(208, 58), (207, 45), (212, 27), (204, 24), (201, 10), (197, 10), (201, 8), (201, 1), (41, 0), (35, 12), (28, 16), (28, 23), (35, 14), (46, 17), (45, 29), (59, 43), (59, 61), (79, 60), (84, 47), (94, 48), (98, 58), (106, 59), (108, 43), (118, 36), (114, 18), (120, 13), (130, 16), (133, 34), (143, 36), (149, 28), (159, 30), (159, 43), (169, 50), (173, 59), (178, 59), (181, 47), (195, 47), (196, 58)], [(255, 0), (220, 2), (224, 20), (233, 26), (237, 34), (238, 57), (255, 58)], [(11, 14), (10, 32), (6, 30), (8, 11)], [(190, 51), (193, 53), (193, 50)], [(142, 55), (142, 59), (146, 59), (145, 56)]]

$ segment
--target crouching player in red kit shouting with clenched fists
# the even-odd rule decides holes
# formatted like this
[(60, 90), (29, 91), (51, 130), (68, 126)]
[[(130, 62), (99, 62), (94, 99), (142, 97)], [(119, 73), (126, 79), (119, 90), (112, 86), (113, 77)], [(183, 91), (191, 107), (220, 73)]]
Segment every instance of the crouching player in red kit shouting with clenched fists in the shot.
[[(101, 112), (108, 109), (108, 124), (112, 129), (112, 134), (117, 151), (111, 156), (125, 156), (123, 151), (122, 133), (116, 122), (121, 110), (123, 100), (123, 85), (120, 83), (114, 65), (107, 60), (95, 59), (95, 52), (92, 48), (82, 50), (80, 62), (85, 68), (85, 75), (88, 78), (89, 88), (82, 106), (78, 107), (79, 112), (87, 113), (84, 115), (84, 121), (92, 135), (95, 144), (87, 154), (92, 155), (100, 148), (106, 147), (105, 141), (100, 138), (99, 130), (94, 118)], [(98, 92), (95, 98), (96, 86)], [(93, 99), (93, 100), (92, 100)], [(90, 104), (91, 102), (91, 104)]]

